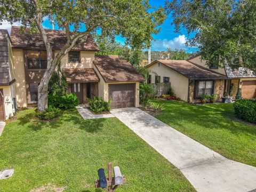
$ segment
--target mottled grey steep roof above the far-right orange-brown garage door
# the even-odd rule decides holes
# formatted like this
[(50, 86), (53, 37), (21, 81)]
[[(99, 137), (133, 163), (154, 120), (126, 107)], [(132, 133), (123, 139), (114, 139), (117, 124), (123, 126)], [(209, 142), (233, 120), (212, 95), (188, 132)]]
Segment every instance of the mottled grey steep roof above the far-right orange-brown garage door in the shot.
[(225, 66), (226, 74), (229, 78), (246, 78), (246, 77), (256, 77), (256, 74), (252, 70), (239, 67), (238, 69), (231, 69), (229, 66)]

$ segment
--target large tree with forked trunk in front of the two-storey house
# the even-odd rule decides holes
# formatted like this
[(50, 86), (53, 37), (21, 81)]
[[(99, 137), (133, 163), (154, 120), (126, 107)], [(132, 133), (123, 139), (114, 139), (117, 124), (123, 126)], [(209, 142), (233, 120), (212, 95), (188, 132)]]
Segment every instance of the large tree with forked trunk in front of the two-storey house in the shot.
[[(31, 28), (31, 33), (39, 32), (45, 44), (47, 68), (38, 86), (38, 110), (47, 108), (48, 83), (57, 63), (96, 30), (108, 37), (121, 35), (132, 47), (148, 46), (152, 34), (159, 31), (156, 27), (165, 19), (162, 7), (149, 9), (148, 0), (0, 0), (0, 23), (21, 22)], [(67, 42), (55, 57), (43, 18), (54, 18), (54, 24), (66, 31)]]

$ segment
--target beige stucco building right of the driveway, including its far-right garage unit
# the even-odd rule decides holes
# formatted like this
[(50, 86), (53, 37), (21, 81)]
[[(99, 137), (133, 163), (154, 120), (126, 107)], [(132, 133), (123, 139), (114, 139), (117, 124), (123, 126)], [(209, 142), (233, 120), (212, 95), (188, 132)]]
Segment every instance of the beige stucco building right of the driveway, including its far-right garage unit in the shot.
[[(200, 94), (217, 94), (221, 100), (225, 90), (230, 91), (233, 84), (233, 98), (238, 87), (242, 89), (243, 98), (256, 97), (256, 76), (252, 71), (239, 68), (231, 70), (227, 66), (207, 66), (200, 55), (187, 60), (156, 60), (151, 62), (148, 69), (149, 83), (171, 82), (177, 97), (187, 102), (200, 102)], [(246, 70), (247, 73), (242, 73)]]

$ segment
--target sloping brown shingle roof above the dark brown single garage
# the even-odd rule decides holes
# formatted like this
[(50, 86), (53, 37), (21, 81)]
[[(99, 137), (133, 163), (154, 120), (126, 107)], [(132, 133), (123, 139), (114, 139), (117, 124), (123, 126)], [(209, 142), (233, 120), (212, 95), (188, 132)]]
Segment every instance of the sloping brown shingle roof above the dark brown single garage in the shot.
[(131, 63), (119, 59), (118, 55), (96, 56), (93, 63), (105, 82), (145, 81)]

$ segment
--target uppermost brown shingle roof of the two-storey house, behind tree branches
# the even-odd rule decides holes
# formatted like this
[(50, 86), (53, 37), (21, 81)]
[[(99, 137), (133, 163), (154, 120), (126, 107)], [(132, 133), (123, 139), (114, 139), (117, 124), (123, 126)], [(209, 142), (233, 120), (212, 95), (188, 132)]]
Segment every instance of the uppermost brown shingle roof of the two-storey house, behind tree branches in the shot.
[[(47, 37), (52, 45), (52, 50), (60, 50), (66, 43), (65, 31), (45, 29)], [(12, 47), (23, 49), (45, 49), (41, 35), (30, 34), (29, 28), (26, 28), (25, 34), (20, 34), (20, 27), (12, 26), (11, 29)], [(99, 51), (98, 45), (94, 39), (89, 36), (85, 43), (77, 45), (75, 51)]]

